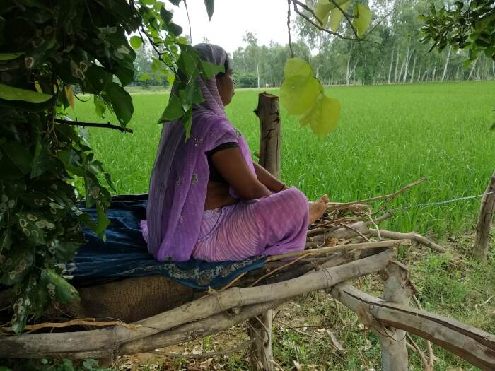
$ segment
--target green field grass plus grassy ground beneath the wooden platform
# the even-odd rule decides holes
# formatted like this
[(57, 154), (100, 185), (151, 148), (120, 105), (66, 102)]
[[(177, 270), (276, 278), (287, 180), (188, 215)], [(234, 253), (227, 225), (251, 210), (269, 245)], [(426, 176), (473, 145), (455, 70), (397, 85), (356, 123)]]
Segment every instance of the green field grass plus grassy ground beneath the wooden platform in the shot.
[[(227, 107), (228, 117), (243, 131), (253, 152), (259, 148), (259, 123), (252, 114), (258, 93), (239, 90)], [(332, 201), (354, 201), (395, 192), (424, 176), (430, 178), (429, 182), (410, 189), (390, 207), (484, 192), (494, 170), (495, 131), (489, 131), (494, 121), (494, 81), (332, 87), (327, 88), (327, 94), (339, 99), (342, 111), (339, 126), (323, 141), (316, 139), (308, 128), (300, 128), (297, 120), (281, 108), (282, 177), (310, 199), (327, 193)], [(112, 174), (117, 194), (147, 192), (161, 132), (156, 119), (168, 95), (136, 92), (133, 98), (134, 117), (129, 127), (134, 134), (90, 131), (93, 149)], [(90, 102), (78, 103), (74, 115), (94, 121), (93, 112)], [(478, 209), (479, 199), (410, 208), (398, 212), (385, 227), (443, 236), (443, 245), (449, 247), (447, 254), (418, 252), (415, 248), (399, 252), (401, 261), (411, 269), (419, 300), (425, 310), (494, 333), (495, 298), (486, 305), (479, 304), (495, 295), (495, 254), (491, 253), (489, 262), (482, 265), (470, 259), (469, 231)], [(382, 285), (374, 276), (356, 284), (380, 295)], [(364, 365), (368, 370), (380, 369), (378, 339), (359, 329), (356, 315), (342, 305), (337, 306), (328, 295), (310, 293), (280, 310), (279, 320), (274, 322), (274, 355), (281, 369), (293, 368), (294, 360), (303, 365), (303, 370), (365, 370)], [(342, 343), (344, 353), (330, 345), (327, 330)], [(245, 329), (241, 326), (181, 349), (218, 351), (233, 348), (242, 338)], [(425, 349), (424, 341), (416, 341)], [(435, 346), (434, 351), (435, 370), (475, 370), (441, 348)], [(409, 360), (410, 370), (421, 370), (417, 355), (410, 353)], [(124, 362), (129, 363), (132, 357)], [(214, 365), (216, 370), (248, 370), (245, 353), (217, 357), (206, 368), (199, 362), (175, 359), (153, 358), (146, 364), (135, 369), (209, 370)]]

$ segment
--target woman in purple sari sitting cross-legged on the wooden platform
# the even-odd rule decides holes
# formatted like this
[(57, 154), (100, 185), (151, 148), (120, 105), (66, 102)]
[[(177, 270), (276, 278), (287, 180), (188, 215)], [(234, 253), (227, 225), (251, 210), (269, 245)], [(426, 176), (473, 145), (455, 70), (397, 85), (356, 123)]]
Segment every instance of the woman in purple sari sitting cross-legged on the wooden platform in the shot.
[(204, 61), (225, 66), (199, 81), (190, 139), (180, 121), (165, 122), (151, 174), (146, 222), (148, 250), (159, 261), (243, 260), (305, 247), (308, 223), (325, 211), (251, 160), (248, 143), (228, 122), (234, 95), (228, 55), (216, 45), (194, 47)]

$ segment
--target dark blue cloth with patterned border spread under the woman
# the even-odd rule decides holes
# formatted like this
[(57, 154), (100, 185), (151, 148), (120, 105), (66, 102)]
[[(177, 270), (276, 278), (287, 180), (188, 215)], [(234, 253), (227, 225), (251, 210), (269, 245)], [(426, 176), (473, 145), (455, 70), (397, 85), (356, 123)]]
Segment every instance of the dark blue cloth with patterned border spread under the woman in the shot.
[[(74, 263), (65, 264), (64, 274), (74, 276), (79, 285), (101, 283), (105, 278), (161, 274), (192, 288), (205, 289), (226, 285), (241, 273), (263, 266), (265, 257), (221, 263), (156, 261), (148, 253), (139, 229), (139, 221), (146, 218), (147, 198), (147, 194), (113, 197), (107, 211), (110, 225), (105, 232), (106, 242), (85, 229), (87, 243), (79, 249)], [(96, 215), (94, 208), (86, 212)]]

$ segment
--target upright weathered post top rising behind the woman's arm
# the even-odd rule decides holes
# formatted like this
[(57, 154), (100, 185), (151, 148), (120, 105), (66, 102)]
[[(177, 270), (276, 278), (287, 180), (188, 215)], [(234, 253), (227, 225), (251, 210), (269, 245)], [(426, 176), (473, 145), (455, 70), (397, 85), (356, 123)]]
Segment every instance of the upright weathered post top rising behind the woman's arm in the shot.
[(260, 93), (255, 114), (260, 119), (260, 165), (280, 177), (281, 131), (279, 97)]

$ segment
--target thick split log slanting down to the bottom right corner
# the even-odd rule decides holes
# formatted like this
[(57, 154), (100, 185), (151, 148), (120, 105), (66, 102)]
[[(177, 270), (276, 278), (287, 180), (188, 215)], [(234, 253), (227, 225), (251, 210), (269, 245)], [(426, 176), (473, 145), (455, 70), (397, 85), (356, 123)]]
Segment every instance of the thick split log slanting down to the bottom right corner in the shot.
[(354, 312), (367, 312), (384, 326), (403, 329), (426, 338), (482, 370), (495, 369), (495, 335), (493, 334), (452, 318), (384, 302), (382, 299), (362, 293), (349, 283), (334, 285), (331, 293), (349, 309)]

